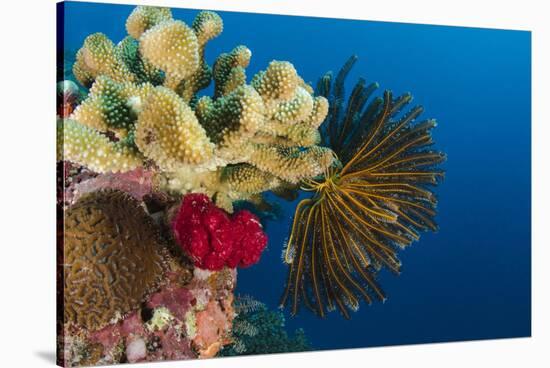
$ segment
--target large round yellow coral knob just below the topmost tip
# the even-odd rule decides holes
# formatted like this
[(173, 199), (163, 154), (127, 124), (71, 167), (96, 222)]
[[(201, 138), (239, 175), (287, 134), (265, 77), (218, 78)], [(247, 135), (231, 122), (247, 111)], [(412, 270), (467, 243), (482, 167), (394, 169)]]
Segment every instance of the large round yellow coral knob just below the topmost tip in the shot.
[(165, 21), (141, 35), (140, 51), (170, 78), (185, 79), (199, 67), (199, 45), (191, 28), (177, 20)]

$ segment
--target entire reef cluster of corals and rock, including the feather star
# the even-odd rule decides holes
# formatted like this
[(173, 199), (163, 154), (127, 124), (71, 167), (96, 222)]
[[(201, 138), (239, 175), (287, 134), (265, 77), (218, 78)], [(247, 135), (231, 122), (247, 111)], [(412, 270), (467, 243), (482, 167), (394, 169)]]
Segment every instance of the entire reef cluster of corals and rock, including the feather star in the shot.
[[(242, 297), (237, 267), (267, 245), (278, 216), (266, 192), (295, 200), (282, 306), (349, 318), (385, 295), (382, 267), (435, 231), (433, 186), (445, 156), (433, 120), (401, 111), (411, 95), (364, 80), (347, 98), (352, 57), (316, 91), (293, 64), (247, 76), (244, 45), (205, 57), (224, 29), (214, 12), (189, 26), (138, 6), (128, 35), (89, 35), (76, 83), (58, 84), (59, 351), (66, 366), (306, 351), (284, 315)], [(63, 71), (66, 74), (66, 71)], [(211, 96), (201, 91), (213, 83)], [(64, 215), (64, 216), (63, 216)]]

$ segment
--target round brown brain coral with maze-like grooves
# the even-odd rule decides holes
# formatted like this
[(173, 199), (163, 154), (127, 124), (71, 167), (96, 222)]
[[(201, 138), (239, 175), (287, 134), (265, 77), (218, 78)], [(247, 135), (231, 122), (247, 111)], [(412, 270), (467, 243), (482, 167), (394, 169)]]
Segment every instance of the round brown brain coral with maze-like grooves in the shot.
[(99, 329), (136, 309), (164, 271), (164, 248), (140, 202), (120, 191), (82, 197), (65, 219), (65, 322)]

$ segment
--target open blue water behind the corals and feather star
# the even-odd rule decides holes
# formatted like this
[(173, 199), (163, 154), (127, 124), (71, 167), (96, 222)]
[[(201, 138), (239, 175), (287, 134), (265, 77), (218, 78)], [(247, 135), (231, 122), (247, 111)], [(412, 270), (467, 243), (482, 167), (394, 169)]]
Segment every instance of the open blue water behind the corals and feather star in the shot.
[[(65, 47), (103, 32), (126, 35), (132, 6), (65, 6)], [(173, 9), (191, 24), (198, 10)], [(359, 61), (361, 76), (396, 94), (412, 92), (438, 120), (437, 147), (446, 179), (436, 189), (438, 233), (401, 253), (403, 272), (382, 272), (389, 296), (345, 320), (303, 310), (287, 315), (316, 349), (521, 337), (531, 335), (531, 34), (462, 27), (218, 12), (224, 32), (207, 46), (210, 64), (244, 44), (249, 76), (272, 59), (288, 60), (309, 82)], [(280, 202), (283, 219), (267, 223), (260, 263), (239, 271), (238, 292), (277, 308), (286, 279), (281, 250), (296, 202)], [(285, 312), (286, 313), (286, 312)]]

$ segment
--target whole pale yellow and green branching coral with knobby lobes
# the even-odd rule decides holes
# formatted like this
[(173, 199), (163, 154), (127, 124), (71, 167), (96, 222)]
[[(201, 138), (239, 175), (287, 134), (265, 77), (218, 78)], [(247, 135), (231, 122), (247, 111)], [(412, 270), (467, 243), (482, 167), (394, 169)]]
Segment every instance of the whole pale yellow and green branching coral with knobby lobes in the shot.
[[(91, 89), (62, 124), (66, 160), (99, 173), (151, 167), (163, 189), (204, 192), (228, 210), (332, 164), (317, 146), (327, 99), (291, 63), (272, 61), (247, 84), (252, 53), (239, 45), (210, 68), (205, 47), (223, 30), (216, 13), (188, 26), (168, 9), (137, 7), (126, 29), (117, 45), (90, 35), (77, 53), (74, 74)], [(214, 96), (200, 96), (211, 80)]]

